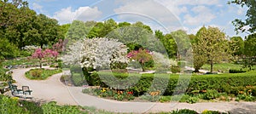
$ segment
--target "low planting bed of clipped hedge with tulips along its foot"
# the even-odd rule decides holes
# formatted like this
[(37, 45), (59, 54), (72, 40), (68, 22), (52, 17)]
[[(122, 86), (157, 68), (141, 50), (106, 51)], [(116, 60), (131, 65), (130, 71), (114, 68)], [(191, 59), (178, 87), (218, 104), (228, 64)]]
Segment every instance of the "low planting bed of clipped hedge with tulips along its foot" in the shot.
[[(183, 91), (185, 91), (184, 98), (181, 101), (188, 103), (195, 103), (201, 100), (254, 101), (256, 96), (256, 71), (236, 74), (193, 74), (188, 87), (185, 84), (186, 80), (179, 79), (177, 74), (159, 74), (154, 77), (154, 74), (113, 73), (113, 76), (111, 72), (103, 71), (99, 73), (93, 72), (85, 76), (90, 86), (98, 86), (100, 88), (85, 88), (84, 93), (92, 93), (112, 100), (132, 100), (134, 98), (125, 99), (127, 95), (132, 93), (136, 97), (135, 99), (138, 97), (149, 101), (166, 102), (175, 100), (173, 96), (182, 95)], [(126, 77), (131, 78), (126, 79)], [(115, 83), (117, 78), (124, 80)], [(138, 78), (138, 80), (132, 80), (134, 78)], [(151, 87), (153, 80), (159, 82), (153, 86), (155, 88)], [(160, 87), (164, 86), (161, 83), (166, 83), (168, 80), (166, 89), (160, 90)], [(177, 83), (178, 81), (179, 83)], [(108, 85), (112, 86), (109, 87)], [(126, 85), (130, 86), (127, 87)], [(178, 90), (175, 91), (177, 87)], [(121, 99), (117, 99), (116, 96), (118, 95)]]

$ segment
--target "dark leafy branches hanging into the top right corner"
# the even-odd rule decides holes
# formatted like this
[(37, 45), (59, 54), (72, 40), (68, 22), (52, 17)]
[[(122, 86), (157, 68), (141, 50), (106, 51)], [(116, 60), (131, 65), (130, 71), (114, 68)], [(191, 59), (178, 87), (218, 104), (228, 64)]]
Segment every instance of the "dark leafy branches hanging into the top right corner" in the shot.
[[(245, 32), (249, 31), (254, 33), (256, 31), (256, 1), (255, 0), (232, 0), (229, 3), (235, 3), (241, 5), (241, 7), (247, 7), (247, 19), (239, 20), (236, 19), (233, 21), (233, 25), (236, 26), (236, 32), (239, 31)], [(248, 27), (248, 29), (247, 29)]]

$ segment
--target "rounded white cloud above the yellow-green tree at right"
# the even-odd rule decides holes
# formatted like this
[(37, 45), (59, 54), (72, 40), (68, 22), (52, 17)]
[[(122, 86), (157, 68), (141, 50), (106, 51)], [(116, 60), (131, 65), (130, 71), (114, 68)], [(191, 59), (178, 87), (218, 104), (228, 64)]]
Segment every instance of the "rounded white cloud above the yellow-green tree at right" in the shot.
[(192, 11), (196, 15), (193, 16), (191, 14), (185, 14), (183, 21), (184, 24), (188, 24), (189, 26), (199, 26), (207, 24), (216, 18), (216, 15), (212, 14), (212, 11), (206, 6), (196, 6)]

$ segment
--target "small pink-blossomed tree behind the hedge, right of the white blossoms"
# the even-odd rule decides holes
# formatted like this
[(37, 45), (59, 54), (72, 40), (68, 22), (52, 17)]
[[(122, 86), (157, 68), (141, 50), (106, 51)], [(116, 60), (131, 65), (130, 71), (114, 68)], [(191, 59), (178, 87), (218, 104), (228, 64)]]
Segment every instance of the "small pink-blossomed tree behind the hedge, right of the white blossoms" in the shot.
[(150, 52), (147, 49), (143, 49), (143, 48), (140, 48), (139, 50), (131, 51), (129, 54), (127, 54), (127, 57), (130, 60), (138, 61), (141, 64), (143, 71), (145, 71), (145, 63), (148, 62), (149, 60), (153, 60)]

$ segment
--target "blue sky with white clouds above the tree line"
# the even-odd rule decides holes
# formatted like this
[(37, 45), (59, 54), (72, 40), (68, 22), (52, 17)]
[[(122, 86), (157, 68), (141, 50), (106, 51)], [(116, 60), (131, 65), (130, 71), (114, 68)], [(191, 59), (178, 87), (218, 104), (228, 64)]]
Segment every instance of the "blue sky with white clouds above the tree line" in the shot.
[[(196, 33), (201, 26), (217, 26), (228, 36), (237, 36), (231, 21), (245, 19), (247, 9), (228, 0), (28, 0), (31, 9), (59, 20), (143, 23), (165, 33), (183, 29)], [(244, 37), (247, 34), (238, 34)]]

